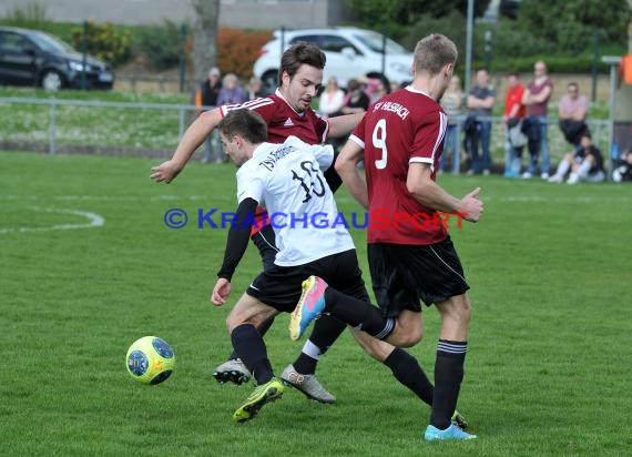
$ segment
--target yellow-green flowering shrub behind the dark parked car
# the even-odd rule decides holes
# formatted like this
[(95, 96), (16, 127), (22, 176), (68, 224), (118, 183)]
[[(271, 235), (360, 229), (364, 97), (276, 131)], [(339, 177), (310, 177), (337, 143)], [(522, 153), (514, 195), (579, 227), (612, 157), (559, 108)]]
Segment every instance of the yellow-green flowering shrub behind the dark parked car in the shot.
[[(72, 30), (72, 45), (78, 51), (83, 49), (84, 28)], [(86, 52), (116, 65), (130, 59), (131, 34), (129, 31), (116, 31), (113, 24), (99, 24), (88, 21), (85, 37)]]

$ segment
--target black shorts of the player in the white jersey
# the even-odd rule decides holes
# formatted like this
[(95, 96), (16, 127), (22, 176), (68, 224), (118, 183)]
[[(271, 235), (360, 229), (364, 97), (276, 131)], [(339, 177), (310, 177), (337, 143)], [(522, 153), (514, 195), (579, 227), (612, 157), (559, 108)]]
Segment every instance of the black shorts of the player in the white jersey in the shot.
[(279, 312), (292, 313), (303, 292), (300, 284), (310, 275), (320, 276), (344, 294), (368, 302), (356, 250), (328, 255), (305, 265), (273, 265), (253, 281), (246, 294)]

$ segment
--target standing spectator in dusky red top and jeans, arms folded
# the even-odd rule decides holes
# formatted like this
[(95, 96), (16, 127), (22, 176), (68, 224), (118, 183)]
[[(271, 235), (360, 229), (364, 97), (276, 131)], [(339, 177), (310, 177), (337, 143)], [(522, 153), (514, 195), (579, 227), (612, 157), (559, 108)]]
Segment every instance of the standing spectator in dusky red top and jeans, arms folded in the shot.
[(553, 93), (553, 82), (547, 74), (547, 64), (539, 60), (533, 65), (534, 79), (529, 83), (522, 98), (522, 103), (527, 105), (529, 118), (529, 170), (522, 177), (531, 179), (538, 169), (538, 159), (542, 154), (540, 172), (543, 180), (549, 179), (551, 159), (549, 154), (549, 100)]

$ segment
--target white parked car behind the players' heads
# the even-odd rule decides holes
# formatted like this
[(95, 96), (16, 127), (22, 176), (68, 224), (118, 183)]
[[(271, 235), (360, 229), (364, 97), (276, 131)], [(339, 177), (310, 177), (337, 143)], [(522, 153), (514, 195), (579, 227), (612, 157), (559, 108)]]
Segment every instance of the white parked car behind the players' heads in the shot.
[[(284, 45), (282, 47), (282, 35)], [(318, 45), (327, 57), (323, 81), (335, 75), (346, 88), (353, 78), (361, 75), (380, 78), (384, 82), (401, 84), (412, 80), (412, 53), (381, 33), (351, 27), (334, 29), (276, 30), (273, 39), (261, 50), (253, 72), (259, 78), (266, 91), (278, 85), (278, 65), (282, 49), (307, 41)], [(383, 45), (386, 52), (383, 62)]]

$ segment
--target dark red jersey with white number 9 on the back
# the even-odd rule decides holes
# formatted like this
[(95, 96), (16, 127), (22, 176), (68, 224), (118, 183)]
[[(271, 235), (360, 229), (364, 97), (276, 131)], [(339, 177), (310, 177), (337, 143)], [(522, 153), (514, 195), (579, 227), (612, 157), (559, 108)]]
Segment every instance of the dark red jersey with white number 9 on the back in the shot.
[[(369, 114), (354, 130), (350, 141), (365, 151), (370, 211), (387, 214), (427, 214), (435, 210), (407, 191), (411, 163), (428, 165), (429, 179), (436, 180), (448, 116), (432, 97), (409, 85), (373, 105)], [(370, 213), (370, 212), (369, 212)], [(369, 224), (367, 243), (435, 244), (447, 236), (442, 224)]]

